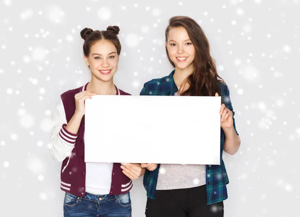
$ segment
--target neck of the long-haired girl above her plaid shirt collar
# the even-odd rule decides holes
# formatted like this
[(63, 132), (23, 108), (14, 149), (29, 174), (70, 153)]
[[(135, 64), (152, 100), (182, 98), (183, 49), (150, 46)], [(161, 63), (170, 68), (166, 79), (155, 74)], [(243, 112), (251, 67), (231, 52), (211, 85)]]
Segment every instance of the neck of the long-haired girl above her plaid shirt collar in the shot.
[(182, 82), (185, 80), (185, 78), (192, 74), (193, 70), (193, 64), (190, 64), (188, 67), (183, 69), (175, 67), (173, 78), (179, 93), (185, 91), (189, 87), (187, 82), (185, 83), (185, 86), (183, 86)]

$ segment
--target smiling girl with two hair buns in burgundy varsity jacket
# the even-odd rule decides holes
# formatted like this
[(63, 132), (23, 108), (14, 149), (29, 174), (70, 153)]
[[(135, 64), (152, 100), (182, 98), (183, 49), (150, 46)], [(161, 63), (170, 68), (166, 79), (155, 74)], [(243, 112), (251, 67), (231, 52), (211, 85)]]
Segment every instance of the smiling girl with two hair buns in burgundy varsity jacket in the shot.
[[(53, 111), (50, 154), (54, 160), (62, 161), (60, 188), (65, 191), (64, 216), (131, 216), (131, 180), (145, 171), (138, 163), (84, 162), (84, 100), (95, 94), (130, 95), (113, 83), (121, 51), (118, 32), (118, 26), (108, 26), (102, 31), (81, 30), (83, 58), (91, 79), (62, 93)], [(99, 112), (106, 115), (105, 105)]]

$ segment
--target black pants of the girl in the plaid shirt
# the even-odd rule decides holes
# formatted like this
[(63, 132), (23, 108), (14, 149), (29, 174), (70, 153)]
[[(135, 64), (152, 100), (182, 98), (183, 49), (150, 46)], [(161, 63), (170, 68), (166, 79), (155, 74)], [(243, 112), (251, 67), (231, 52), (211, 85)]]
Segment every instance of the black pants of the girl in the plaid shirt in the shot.
[(146, 217), (223, 217), (223, 201), (206, 205), (206, 186), (156, 190), (147, 198)]

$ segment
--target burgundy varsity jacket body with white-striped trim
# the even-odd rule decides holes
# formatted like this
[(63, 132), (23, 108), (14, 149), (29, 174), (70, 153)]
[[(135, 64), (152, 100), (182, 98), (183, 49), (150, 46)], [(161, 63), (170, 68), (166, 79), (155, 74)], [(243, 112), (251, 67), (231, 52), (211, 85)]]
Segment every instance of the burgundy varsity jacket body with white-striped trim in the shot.
[[(86, 90), (87, 83), (76, 89), (68, 90), (60, 95), (66, 121), (68, 122), (75, 112), (74, 95), (80, 91)], [(130, 95), (117, 87), (117, 95)], [(62, 124), (59, 136), (68, 142), (74, 143), (74, 148), (69, 157), (62, 161), (60, 178), (60, 188), (77, 196), (85, 195), (85, 162), (84, 162), (84, 115), (82, 117), (77, 134), (68, 132), (65, 129), (66, 123)], [(75, 139), (74, 139), (75, 138)], [(101, 177), (99, 177), (101, 178)], [(120, 163), (113, 163), (111, 173), (111, 186), (109, 194), (122, 194), (128, 192), (132, 188), (132, 181), (122, 173)]]

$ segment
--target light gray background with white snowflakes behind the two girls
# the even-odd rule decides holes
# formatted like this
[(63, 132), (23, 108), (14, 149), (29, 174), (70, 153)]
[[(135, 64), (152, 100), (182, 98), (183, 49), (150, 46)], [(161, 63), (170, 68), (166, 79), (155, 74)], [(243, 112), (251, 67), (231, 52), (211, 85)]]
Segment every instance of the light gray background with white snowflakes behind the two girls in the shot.
[[(137, 95), (145, 81), (171, 70), (164, 29), (173, 15), (202, 26), (236, 111), (241, 146), (223, 156), (230, 179), (225, 216), (298, 216), (299, 4), (1, 0), (0, 216), (62, 216), (60, 163), (48, 150), (50, 118), (59, 94), (90, 78), (79, 31), (119, 25), (114, 82)], [(131, 195), (132, 216), (143, 216), (142, 178)]]

